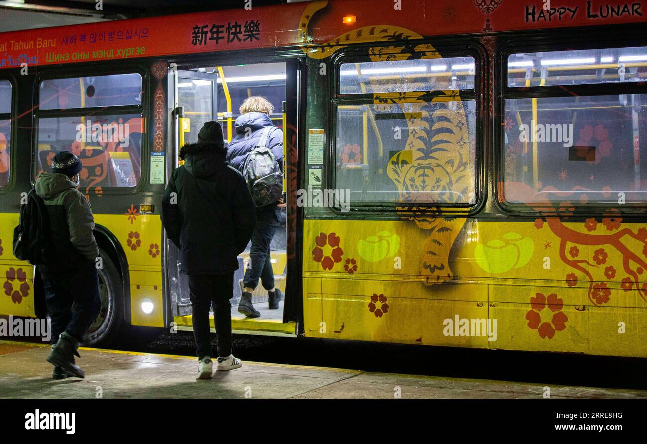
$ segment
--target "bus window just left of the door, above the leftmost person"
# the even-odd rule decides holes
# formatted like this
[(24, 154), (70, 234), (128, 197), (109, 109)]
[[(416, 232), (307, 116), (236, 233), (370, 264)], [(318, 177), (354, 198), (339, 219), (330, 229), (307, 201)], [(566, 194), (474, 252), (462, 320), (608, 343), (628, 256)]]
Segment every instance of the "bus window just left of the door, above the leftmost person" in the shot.
[[(43, 80), (40, 91), (35, 177), (51, 172), (56, 153), (71, 151), (83, 164), (82, 189), (137, 185), (146, 139), (140, 74)], [(120, 110), (111, 113), (113, 105)], [(60, 115), (64, 107), (80, 111)]]

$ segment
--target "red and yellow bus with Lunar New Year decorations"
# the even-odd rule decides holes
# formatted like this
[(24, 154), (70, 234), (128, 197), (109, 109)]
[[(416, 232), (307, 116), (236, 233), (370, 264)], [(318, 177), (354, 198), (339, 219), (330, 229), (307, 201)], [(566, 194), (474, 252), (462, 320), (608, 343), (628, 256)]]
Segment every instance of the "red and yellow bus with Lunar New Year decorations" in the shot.
[(258, 291), (262, 316), (238, 315), (243, 254), (234, 333), (647, 357), (647, 4), (575, 3), (331, 0), (0, 34), (0, 313), (46, 314), (12, 230), (70, 150), (103, 264), (87, 344), (191, 329), (161, 197), (203, 122), (231, 139), (260, 94), (284, 135), (285, 300)]

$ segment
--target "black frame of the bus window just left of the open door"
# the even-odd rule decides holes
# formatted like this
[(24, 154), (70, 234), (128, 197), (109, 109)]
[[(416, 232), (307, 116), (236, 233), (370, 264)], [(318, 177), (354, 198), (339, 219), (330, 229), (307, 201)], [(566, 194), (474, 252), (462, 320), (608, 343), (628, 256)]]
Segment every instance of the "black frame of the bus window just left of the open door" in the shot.
[[(32, 134), (32, 164), (30, 166), (30, 183), (35, 186), (36, 165), (38, 162), (38, 121), (41, 118), (65, 118), (80, 117), (85, 113), (93, 113), (96, 116), (118, 115), (119, 113), (141, 114), (144, 120), (144, 129), (146, 133), (142, 134), (140, 150), (140, 177), (135, 186), (102, 186), (104, 195), (133, 195), (144, 191), (149, 181), (149, 157), (150, 157), (150, 122), (149, 122), (149, 101), (151, 88), (150, 69), (144, 63), (120, 63), (119, 67), (112, 63), (93, 64), (91, 67), (76, 65), (74, 67), (55, 67), (52, 69), (41, 69), (36, 78), (34, 78), (34, 131)], [(139, 74), (142, 78), (142, 102), (140, 105), (115, 105), (115, 106), (96, 106), (96, 107), (78, 107), (70, 108), (65, 111), (60, 109), (39, 109), (40, 103), (40, 85), (43, 80), (80, 78), (89, 76), (109, 76), (117, 74)], [(94, 189), (96, 187), (90, 187)]]

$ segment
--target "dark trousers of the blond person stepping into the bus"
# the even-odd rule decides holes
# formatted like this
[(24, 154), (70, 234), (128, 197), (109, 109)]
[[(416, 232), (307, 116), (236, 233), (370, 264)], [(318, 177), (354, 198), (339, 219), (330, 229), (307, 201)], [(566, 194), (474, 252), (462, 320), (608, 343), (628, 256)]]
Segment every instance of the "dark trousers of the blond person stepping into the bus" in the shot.
[(259, 278), (264, 289), (274, 288), (270, 243), (272, 243), (272, 238), (274, 238), (278, 227), (280, 227), (280, 222), (273, 208), (257, 212), (256, 227), (252, 234), (252, 248), (249, 252), (250, 263), (243, 278), (245, 288), (256, 289)]

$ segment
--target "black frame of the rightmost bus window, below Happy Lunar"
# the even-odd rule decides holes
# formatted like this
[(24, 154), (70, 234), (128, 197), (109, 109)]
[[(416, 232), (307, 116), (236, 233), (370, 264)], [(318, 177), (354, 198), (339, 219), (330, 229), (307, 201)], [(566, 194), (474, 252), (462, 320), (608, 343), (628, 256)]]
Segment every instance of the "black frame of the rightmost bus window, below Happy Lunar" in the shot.
[[(624, 47), (647, 47), (647, 39), (629, 39), (629, 30), (634, 25), (608, 27), (591, 27), (586, 30), (565, 30), (560, 39), (556, 39), (549, 30), (525, 32), (514, 37), (501, 38), (494, 50), (494, 115), (493, 115), (493, 178), (496, 196), (494, 205), (506, 216), (542, 217), (559, 214), (553, 205), (534, 205), (512, 203), (505, 200), (505, 152), (501, 146), (505, 133), (505, 101), (516, 98), (559, 98), (569, 96), (604, 96), (618, 94), (647, 94), (647, 82), (617, 83), (580, 83), (575, 85), (532, 85), (529, 87), (508, 85), (508, 58), (511, 54), (521, 52), (552, 52), (560, 50), (615, 49)], [(511, 33), (507, 33), (511, 34)], [(604, 36), (604, 38), (600, 38)], [(567, 42), (567, 43), (565, 43)], [(497, 129), (498, 128), (498, 129)], [(646, 153), (647, 154), (647, 153)], [(613, 191), (612, 191), (613, 192)], [(532, 205), (532, 203), (531, 203)], [(620, 212), (623, 217), (644, 217), (647, 201), (644, 203), (588, 204), (572, 203), (576, 217), (600, 217), (605, 212)]]

